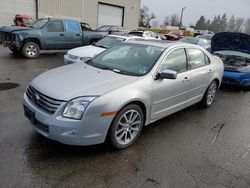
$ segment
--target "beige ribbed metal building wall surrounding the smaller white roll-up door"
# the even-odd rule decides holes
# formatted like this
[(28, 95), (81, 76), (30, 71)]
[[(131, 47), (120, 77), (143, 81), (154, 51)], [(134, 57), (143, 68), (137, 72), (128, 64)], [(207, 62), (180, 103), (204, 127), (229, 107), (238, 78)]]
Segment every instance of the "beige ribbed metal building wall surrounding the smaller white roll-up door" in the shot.
[(124, 27), (137, 29), (141, 0), (38, 0), (38, 17), (73, 18), (98, 25), (98, 3), (124, 7)]

